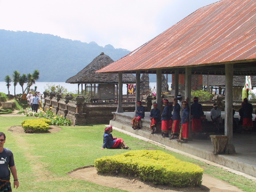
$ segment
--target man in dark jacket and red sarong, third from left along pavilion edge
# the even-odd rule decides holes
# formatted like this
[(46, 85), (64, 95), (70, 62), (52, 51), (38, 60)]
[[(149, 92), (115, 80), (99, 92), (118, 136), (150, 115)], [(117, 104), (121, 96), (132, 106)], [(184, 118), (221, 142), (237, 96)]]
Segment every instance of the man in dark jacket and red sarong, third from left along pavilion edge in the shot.
[(164, 110), (161, 115), (161, 120), (162, 120), (162, 125), (161, 125), (161, 130), (162, 130), (162, 136), (163, 137), (169, 137), (169, 120), (171, 119), (170, 116), (170, 107), (169, 107), (169, 101), (167, 99), (163, 100), (164, 102)]

